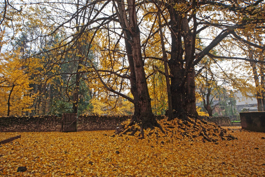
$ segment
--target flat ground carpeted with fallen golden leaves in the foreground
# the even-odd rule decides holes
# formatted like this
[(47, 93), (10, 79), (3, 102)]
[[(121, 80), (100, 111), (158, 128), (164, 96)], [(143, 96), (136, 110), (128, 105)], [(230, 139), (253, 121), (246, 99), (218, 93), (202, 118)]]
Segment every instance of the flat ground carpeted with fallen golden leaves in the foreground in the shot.
[[(227, 127), (238, 140), (131, 136), (114, 131), (0, 133), (1, 177), (264, 177), (265, 133)], [(227, 129), (226, 128), (226, 129)], [(26, 166), (26, 172), (17, 172)]]

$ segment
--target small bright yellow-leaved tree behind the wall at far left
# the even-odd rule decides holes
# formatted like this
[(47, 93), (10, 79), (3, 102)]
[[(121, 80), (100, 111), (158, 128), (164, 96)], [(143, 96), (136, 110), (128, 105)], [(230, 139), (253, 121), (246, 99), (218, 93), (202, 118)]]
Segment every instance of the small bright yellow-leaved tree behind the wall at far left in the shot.
[(0, 58), (0, 115), (28, 115), (34, 96), (24, 63), (15, 54), (1, 53)]

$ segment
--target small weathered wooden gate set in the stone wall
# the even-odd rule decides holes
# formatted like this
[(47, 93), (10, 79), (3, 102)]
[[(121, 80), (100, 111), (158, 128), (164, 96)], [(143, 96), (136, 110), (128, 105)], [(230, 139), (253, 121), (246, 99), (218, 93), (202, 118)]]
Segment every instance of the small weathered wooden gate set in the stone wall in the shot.
[(77, 131), (77, 114), (63, 114), (62, 119), (62, 131), (63, 132), (74, 132)]

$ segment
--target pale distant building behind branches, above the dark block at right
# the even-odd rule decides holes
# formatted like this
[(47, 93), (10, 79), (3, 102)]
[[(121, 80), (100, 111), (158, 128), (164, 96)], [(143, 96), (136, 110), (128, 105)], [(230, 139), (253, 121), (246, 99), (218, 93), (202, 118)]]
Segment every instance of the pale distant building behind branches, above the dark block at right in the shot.
[[(255, 95), (251, 93), (247, 93), (247, 97), (243, 96), (242, 93), (238, 90), (235, 91), (235, 98), (237, 100), (236, 107), (237, 111), (241, 112), (242, 109), (246, 109), (247, 111), (258, 111), (256, 107), (258, 107), (258, 102)], [(257, 109), (257, 110), (256, 110)]]

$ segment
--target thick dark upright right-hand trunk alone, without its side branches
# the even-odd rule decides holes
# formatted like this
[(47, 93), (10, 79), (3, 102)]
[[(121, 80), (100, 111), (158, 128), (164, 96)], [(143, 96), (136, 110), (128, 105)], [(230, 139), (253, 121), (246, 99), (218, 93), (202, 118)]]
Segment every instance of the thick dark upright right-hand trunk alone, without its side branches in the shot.
[[(189, 32), (188, 21), (171, 7), (171, 59), (169, 61), (171, 79), (172, 107), (179, 118), (187, 114), (197, 115), (195, 100), (195, 72), (191, 65), (194, 56), (194, 43)], [(185, 59), (183, 59), (185, 45)], [(185, 63), (184, 63), (185, 61)]]

